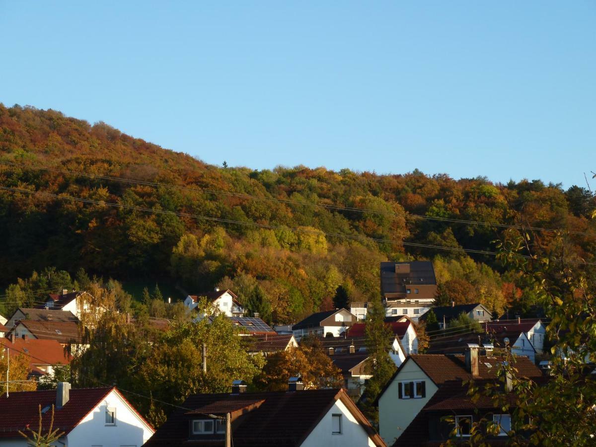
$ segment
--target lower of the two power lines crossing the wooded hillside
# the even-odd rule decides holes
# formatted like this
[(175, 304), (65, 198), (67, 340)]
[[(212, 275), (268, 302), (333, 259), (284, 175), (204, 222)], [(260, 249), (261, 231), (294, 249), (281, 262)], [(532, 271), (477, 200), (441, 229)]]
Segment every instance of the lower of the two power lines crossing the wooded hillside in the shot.
[[(309, 229), (304, 229), (304, 228), (288, 228), (288, 227), (279, 226), (279, 225), (257, 224), (256, 222), (234, 221), (232, 219), (214, 218), (212, 216), (201, 216), (201, 215), (194, 215), (194, 214), (190, 214), (190, 213), (180, 213), (180, 212), (167, 211), (167, 210), (151, 209), (151, 208), (145, 208), (145, 207), (139, 207), (139, 206), (125, 205), (122, 203), (111, 203), (111, 202), (105, 202), (105, 201), (100, 201), (100, 200), (92, 200), (89, 198), (73, 197), (71, 195), (61, 195), (61, 194), (58, 195), (58, 194), (52, 194), (52, 193), (44, 193), (42, 191), (28, 191), (28, 190), (22, 190), (20, 188), (11, 188), (11, 187), (0, 186), (0, 190), (13, 191), (16, 193), (36, 194), (36, 195), (42, 195), (45, 197), (58, 198), (61, 200), (73, 200), (73, 201), (79, 201), (82, 203), (91, 203), (91, 204), (95, 204), (95, 205), (99, 205), (99, 206), (111, 206), (111, 207), (116, 207), (116, 208), (120, 208), (120, 209), (136, 210), (136, 211), (142, 211), (142, 212), (148, 212), (148, 213), (154, 213), (154, 214), (175, 215), (175, 216), (180, 216), (180, 217), (201, 219), (204, 221), (253, 226), (256, 228), (280, 229), (282, 231), (293, 231), (293, 232), (306, 233), (306, 234), (325, 235), (327, 237), (345, 238), (345, 239), (350, 239), (350, 240), (381, 242), (381, 243), (389, 243), (389, 244), (401, 244), (403, 246), (424, 247), (424, 248), (428, 248), (428, 249), (448, 250), (448, 251), (452, 251), (452, 252), (486, 254), (489, 256), (496, 256), (498, 254), (496, 252), (489, 252), (486, 250), (463, 249), (463, 248), (459, 248), (459, 247), (457, 247), (457, 248), (456, 247), (442, 247), (442, 246), (435, 246), (435, 245), (430, 245), (430, 244), (396, 241), (396, 240), (392, 240), (392, 239), (371, 238), (371, 237), (360, 236), (360, 235), (330, 233), (330, 232), (324, 232), (324, 231), (319, 231), (319, 230), (309, 230)], [(523, 254), (514, 254), (512, 256), (517, 257), (517, 258), (523, 258), (523, 259), (533, 259), (532, 256), (526, 256)], [(582, 264), (582, 265), (596, 265), (595, 262), (585, 262), (585, 261), (578, 261), (578, 260), (572, 260), (572, 259), (553, 259), (553, 260)]]

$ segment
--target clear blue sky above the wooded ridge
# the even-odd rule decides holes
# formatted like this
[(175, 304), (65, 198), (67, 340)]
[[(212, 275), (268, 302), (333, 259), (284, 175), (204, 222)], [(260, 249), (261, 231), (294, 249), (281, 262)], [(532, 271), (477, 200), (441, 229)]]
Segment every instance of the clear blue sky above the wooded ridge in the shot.
[(0, 102), (209, 163), (596, 170), (596, 2), (0, 0)]

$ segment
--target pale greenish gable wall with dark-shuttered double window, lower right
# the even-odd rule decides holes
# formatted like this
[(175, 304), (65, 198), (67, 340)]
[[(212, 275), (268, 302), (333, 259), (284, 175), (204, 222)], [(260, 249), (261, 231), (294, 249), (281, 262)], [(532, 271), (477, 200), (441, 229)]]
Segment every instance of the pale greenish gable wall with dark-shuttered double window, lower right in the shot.
[[(423, 398), (400, 399), (399, 387), (402, 382), (424, 381), (426, 387)], [(378, 399), (379, 434), (387, 445), (393, 445), (430, 398), (437, 392), (437, 386), (424, 371), (411, 359), (402, 365), (399, 374), (393, 378), (383, 395)]]

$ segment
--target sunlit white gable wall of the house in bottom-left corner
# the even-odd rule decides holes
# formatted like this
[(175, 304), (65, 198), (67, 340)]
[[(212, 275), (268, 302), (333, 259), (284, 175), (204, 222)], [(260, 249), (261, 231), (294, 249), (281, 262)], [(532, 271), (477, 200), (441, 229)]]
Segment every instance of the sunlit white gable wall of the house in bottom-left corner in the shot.
[[(105, 424), (105, 409), (116, 408), (116, 425)], [(59, 410), (58, 410), (59, 411)], [(92, 412), (67, 435), (67, 445), (136, 446), (143, 445), (153, 434), (135, 411), (112, 390)]]

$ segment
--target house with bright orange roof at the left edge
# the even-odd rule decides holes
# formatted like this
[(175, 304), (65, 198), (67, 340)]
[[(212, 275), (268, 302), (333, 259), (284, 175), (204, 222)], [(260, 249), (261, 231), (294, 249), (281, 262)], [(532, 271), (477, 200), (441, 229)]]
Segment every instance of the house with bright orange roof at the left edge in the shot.
[(68, 365), (71, 357), (56, 340), (0, 339), (0, 356), (8, 350), (10, 355), (23, 354), (29, 359), (30, 377), (53, 375), (54, 365)]

